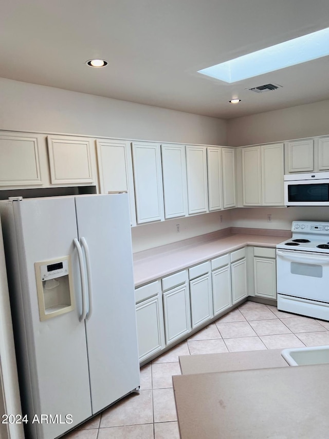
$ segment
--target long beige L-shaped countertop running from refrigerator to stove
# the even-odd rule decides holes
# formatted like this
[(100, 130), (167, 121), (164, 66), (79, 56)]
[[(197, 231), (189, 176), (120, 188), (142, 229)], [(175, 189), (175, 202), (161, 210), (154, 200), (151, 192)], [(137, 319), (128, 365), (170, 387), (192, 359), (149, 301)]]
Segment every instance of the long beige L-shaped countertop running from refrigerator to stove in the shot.
[[(245, 229), (244, 229), (245, 230)], [(237, 233), (226, 236), (221, 232), (186, 239), (174, 244), (163, 245), (152, 250), (134, 254), (135, 287), (152, 280), (184, 270), (208, 259), (245, 247), (259, 245), (276, 247), (287, 238), (286, 231), (277, 236)], [(279, 232), (279, 233), (280, 233)], [(289, 236), (289, 232), (288, 232)], [(290, 233), (291, 236), (291, 233)]]

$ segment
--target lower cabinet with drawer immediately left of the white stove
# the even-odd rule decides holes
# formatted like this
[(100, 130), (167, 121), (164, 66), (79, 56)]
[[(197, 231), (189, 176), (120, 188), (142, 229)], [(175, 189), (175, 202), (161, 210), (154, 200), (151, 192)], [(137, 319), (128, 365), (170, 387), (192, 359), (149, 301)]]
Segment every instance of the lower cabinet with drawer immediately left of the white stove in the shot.
[(254, 247), (253, 277), (255, 297), (264, 297), (276, 300), (277, 267), (275, 249)]

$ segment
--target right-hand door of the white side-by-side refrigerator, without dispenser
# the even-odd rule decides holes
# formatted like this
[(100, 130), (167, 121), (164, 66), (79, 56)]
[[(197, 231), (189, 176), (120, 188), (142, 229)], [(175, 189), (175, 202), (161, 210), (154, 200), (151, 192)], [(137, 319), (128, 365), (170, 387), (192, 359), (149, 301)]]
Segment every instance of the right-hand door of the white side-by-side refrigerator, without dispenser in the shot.
[[(93, 413), (139, 386), (133, 259), (127, 194), (76, 197), (78, 234), (92, 272), (86, 320)], [(88, 315), (88, 314), (87, 314)]]

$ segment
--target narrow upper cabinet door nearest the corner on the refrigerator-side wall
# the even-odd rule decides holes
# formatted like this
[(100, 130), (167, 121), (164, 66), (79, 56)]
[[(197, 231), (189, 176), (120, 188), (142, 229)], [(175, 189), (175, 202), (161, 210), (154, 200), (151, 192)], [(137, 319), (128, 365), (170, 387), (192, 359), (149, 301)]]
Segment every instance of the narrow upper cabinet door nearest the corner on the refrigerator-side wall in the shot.
[(235, 207), (235, 152), (233, 148), (222, 148), (223, 208)]

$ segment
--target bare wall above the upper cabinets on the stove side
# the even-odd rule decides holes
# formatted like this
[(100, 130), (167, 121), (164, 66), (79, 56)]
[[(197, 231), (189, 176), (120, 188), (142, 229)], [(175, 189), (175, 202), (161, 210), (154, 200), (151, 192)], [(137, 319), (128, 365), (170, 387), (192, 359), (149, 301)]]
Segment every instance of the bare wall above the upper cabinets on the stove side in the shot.
[(329, 134), (329, 100), (228, 120), (230, 146)]

